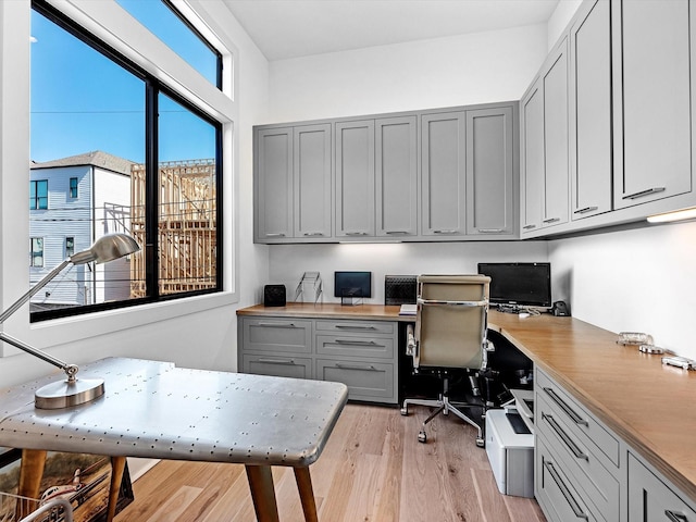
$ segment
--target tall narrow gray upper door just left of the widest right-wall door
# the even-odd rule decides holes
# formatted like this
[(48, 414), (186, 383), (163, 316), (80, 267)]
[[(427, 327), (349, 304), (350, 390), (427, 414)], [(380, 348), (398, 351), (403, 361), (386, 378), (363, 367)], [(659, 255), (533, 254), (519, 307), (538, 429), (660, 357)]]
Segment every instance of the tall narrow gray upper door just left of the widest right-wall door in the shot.
[(609, 2), (586, 2), (581, 10), (570, 29), (573, 220), (611, 210), (612, 183)]

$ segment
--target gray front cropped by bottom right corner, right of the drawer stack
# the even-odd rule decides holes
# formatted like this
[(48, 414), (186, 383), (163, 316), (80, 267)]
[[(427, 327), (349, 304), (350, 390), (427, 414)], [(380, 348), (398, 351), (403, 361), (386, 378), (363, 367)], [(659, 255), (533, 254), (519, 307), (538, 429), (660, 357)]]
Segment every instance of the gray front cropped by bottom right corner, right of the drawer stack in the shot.
[(629, 452), (629, 522), (694, 522), (696, 511)]

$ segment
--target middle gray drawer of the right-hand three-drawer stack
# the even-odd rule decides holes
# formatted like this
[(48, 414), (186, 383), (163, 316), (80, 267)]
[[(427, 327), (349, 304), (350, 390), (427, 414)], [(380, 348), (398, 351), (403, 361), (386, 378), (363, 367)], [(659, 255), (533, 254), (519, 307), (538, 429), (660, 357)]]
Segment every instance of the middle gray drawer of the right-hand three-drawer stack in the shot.
[[(619, 520), (621, 488), (619, 480), (605, 467), (612, 467), (597, 449), (557, 414), (557, 410), (539, 395), (534, 405), (536, 434), (546, 443), (573, 485), (599, 509), (607, 520)], [(604, 462), (604, 463), (602, 463)], [(614, 469), (616, 471), (616, 469)]]

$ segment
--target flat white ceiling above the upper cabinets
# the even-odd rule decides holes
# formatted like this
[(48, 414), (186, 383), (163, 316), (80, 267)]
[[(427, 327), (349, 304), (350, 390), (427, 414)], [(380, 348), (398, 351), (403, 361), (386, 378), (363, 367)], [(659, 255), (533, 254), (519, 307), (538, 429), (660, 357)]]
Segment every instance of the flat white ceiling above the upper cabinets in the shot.
[(268, 60), (546, 23), (559, 0), (224, 0)]

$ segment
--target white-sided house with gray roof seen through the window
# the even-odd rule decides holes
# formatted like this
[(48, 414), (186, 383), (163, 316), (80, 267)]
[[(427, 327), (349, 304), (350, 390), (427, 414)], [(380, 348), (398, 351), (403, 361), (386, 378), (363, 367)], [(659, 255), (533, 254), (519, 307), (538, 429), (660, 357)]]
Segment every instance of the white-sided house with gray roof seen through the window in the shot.
[[(132, 165), (101, 151), (32, 163), (30, 183), (48, 183), (47, 208), (29, 201), (29, 237), (41, 239), (44, 247), (41, 257), (29, 258), (32, 285), (104, 234), (127, 232)], [(33, 265), (41, 264), (41, 259), (42, 266)], [(32, 310), (124, 299), (130, 291), (129, 281), (127, 258), (72, 266), (32, 298)]]

